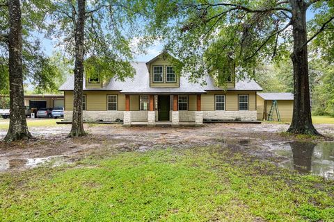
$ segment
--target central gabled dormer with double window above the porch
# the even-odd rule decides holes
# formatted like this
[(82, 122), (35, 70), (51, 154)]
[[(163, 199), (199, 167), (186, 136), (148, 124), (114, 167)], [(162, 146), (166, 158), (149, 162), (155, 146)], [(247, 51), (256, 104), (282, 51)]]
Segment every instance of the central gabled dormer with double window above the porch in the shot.
[(176, 74), (171, 58), (167, 53), (161, 53), (146, 62), (150, 72), (150, 87), (180, 87), (180, 75)]

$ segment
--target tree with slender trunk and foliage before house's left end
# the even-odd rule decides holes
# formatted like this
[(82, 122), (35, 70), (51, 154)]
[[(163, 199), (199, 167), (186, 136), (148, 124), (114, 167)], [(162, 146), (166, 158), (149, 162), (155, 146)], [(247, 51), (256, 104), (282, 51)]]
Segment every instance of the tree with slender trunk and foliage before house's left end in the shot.
[[(133, 76), (131, 41), (140, 37), (150, 1), (61, 1), (50, 3), (50, 36), (59, 38), (67, 56), (74, 57), (74, 103), (70, 137), (86, 135), (82, 96), (84, 74), (106, 83), (111, 77)], [(142, 42), (146, 42), (142, 37)]]

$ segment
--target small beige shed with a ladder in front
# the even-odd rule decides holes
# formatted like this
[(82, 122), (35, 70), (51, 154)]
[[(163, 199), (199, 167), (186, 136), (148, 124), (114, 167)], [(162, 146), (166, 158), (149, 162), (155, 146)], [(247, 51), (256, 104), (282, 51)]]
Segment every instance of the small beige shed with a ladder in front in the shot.
[[(281, 121), (292, 121), (294, 94), (289, 92), (257, 93), (257, 120), (268, 120), (273, 101), (277, 101)], [(276, 110), (273, 120), (278, 121)]]

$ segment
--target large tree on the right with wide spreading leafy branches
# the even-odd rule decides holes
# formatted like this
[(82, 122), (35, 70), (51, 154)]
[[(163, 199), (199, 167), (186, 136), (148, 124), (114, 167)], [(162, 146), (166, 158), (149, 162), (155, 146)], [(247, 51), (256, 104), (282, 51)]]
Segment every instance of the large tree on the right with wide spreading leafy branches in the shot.
[[(294, 112), (288, 131), (319, 135), (311, 119), (308, 43), (321, 42), (317, 39), (320, 34), (331, 41), (334, 1), (168, 2), (173, 13), (156, 12), (158, 21), (170, 19), (169, 23), (157, 23), (159, 34), (165, 37), (166, 51), (180, 58), (193, 80), (206, 72), (228, 70), (230, 61), (236, 64), (239, 77), (252, 77), (260, 63), (289, 57), (293, 63)], [(306, 14), (310, 10), (317, 22), (308, 29)], [(327, 47), (333, 51), (333, 45)]]

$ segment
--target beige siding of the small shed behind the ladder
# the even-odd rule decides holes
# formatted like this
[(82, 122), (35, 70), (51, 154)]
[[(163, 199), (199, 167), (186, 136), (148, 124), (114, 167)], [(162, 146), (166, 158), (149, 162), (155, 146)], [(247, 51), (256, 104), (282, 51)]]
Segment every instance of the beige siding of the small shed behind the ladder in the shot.
[[(267, 101), (267, 114), (270, 112), (273, 101)], [(277, 102), (281, 121), (292, 121), (292, 112), (294, 110), (294, 101), (280, 100)], [(277, 121), (277, 114), (274, 112), (273, 119)]]

